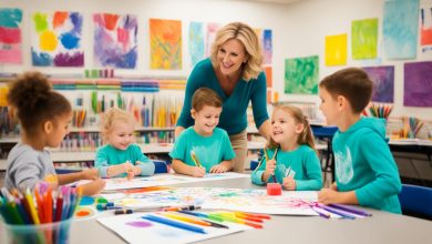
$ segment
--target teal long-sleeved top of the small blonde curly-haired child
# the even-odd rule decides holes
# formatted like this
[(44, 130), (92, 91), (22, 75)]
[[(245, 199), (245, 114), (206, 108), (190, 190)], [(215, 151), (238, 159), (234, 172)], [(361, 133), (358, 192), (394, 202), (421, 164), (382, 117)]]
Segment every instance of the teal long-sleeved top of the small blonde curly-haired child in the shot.
[[(142, 170), (141, 175), (147, 176), (154, 174), (155, 165), (153, 161), (148, 160), (142, 152), (138, 145), (131, 144), (126, 150), (119, 150), (110, 144), (99, 148), (96, 151), (96, 159), (94, 160), (94, 166), (99, 170), (101, 177), (106, 177), (106, 170), (109, 166), (117, 165), (130, 161), (132, 164), (137, 165), (141, 162), (140, 167)], [(126, 176), (126, 173), (115, 176)]]

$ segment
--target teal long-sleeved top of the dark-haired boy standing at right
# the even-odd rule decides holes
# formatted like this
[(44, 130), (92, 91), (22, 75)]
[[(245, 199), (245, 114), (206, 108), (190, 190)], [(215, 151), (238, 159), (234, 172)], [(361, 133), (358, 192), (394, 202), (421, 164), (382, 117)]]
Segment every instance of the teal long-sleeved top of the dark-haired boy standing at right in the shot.
[(385, 121), (361, 118), (332, 141), (336, 184), (354, 191), (360, 205), (401, 213), (401, 181), (385, 139)]

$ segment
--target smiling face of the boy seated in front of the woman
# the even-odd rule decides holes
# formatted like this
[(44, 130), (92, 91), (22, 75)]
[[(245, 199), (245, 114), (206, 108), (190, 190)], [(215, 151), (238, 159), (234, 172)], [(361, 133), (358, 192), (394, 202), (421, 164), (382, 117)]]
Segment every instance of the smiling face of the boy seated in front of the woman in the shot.
[(212, 135), (213, 130), (219, 123), (222, 108), (204, 105), (199, 111), (192, 110), (192, 116), (195, 119), (194, 129), (198, 134)]

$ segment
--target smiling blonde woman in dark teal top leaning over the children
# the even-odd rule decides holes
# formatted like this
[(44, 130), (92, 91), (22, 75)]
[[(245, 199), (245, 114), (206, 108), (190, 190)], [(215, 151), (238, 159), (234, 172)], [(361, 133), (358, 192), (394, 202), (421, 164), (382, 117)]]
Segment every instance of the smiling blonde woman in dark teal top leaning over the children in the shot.
[(263, 52), (258, 37), (249, 26), (233, 22), (219, 29), (210, 57), (198, 62), (188, 78), (175, 136), (194, 124), (191, 116), (194, 92), (199, 88), (214, 90), (223, 100), (218, 128), (227, 131), (236, 153), (234, 171), (244, 172), (247, 155), (246, 110), (249, 101), (259, 133), (266, 139), (270, 138), (266, 75), (261, 64)]

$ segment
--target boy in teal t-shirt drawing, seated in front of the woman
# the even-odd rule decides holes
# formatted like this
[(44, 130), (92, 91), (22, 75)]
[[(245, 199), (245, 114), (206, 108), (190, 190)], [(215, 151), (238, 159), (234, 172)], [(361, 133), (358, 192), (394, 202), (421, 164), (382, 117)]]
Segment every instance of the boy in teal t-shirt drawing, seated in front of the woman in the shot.
[(191, 110), (195, 124), (182, 132), (169, 153), (176, 173), (203, 177), (232, 170), (235, 152), (226, 131), (216, 128), (220, 113), (216, 92), (207, 88), (195, 91)]

